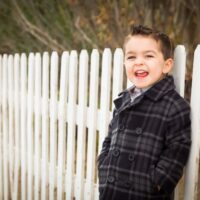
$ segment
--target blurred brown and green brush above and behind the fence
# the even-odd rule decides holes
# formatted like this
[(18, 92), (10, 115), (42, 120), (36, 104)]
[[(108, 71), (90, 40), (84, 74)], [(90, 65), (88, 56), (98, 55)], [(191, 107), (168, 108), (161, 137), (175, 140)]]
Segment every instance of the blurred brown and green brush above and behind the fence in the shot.
[(133, 24), (166, 32), (187, 51), (189, 100), (200, 43), (199, 0), (0, 0), (0, 54), (122, 47)]

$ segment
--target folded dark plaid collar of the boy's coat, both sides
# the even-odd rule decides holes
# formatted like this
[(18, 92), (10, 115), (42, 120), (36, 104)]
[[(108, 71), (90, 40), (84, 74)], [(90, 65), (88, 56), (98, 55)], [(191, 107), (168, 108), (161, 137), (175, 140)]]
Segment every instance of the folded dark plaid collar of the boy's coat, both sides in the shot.
[[(114, 100), (117, 109), (119, 107), (121, 108), (124, 107), (124, 105), (127, 105), (130, 102), (129, 92), (130, 89), (132, 89), (133, 87), (128, 88), (123, 92), (119, 93), (118, 98)], [(174, 89), (175, 89), (174, 79), (171, 75), (167, 75), (164, 79), (162, 79), (161, 81), (153, 85), (151, 88), (149, 88), (146, 92), (144, 92), (143, 95), (141, 95), (141, 97), (139, 97), (135, 103), (138, 103), (141, 99), (143, 99), (144, 96), (153, 101), (158, 101), (165, 94)]]

